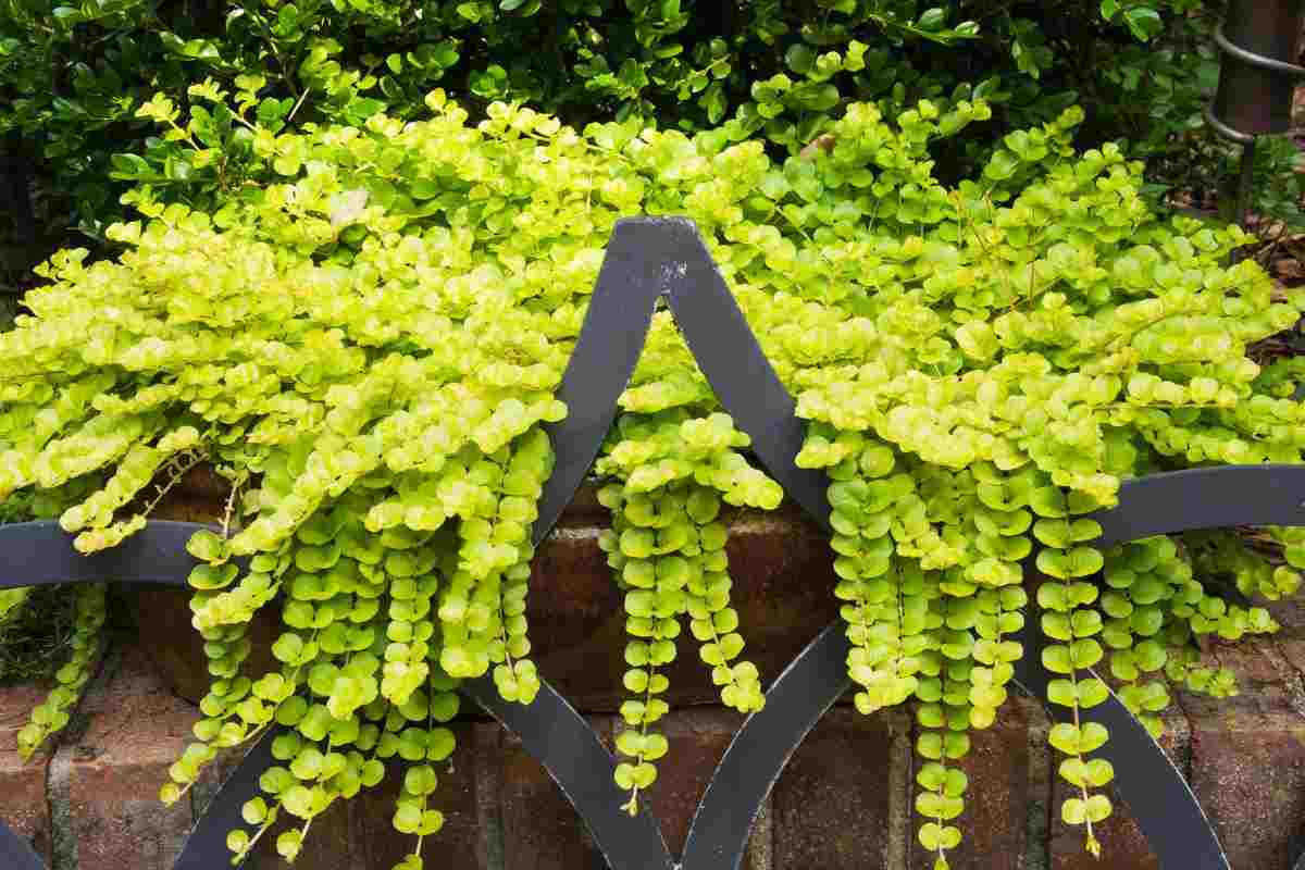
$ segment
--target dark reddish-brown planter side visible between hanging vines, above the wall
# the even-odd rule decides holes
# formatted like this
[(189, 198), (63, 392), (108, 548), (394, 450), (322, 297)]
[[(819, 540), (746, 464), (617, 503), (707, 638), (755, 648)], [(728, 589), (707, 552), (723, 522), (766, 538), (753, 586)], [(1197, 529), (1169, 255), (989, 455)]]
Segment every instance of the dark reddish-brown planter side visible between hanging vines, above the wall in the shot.
[[(586, 505), (568, 510), (540, 545), (526, 617), (539, 672), (577, 708), (616, 711), (625, 699), (624, 592), (598, 547), (609, 519)], [(748, 639), (744, 656), (763, 680), (771, 680), (838, 616), (829, 537), (795, 509), (743, 513), (731, 523), (728, 553), (733, 604)], [(189, 593), (138, 590), (130, 595), (140, 643), (154, 651), (153, 660), (181, 697), (198, 700), (209, 677), (202, 642), (191, 627)], [(251, 673), (260, 664), (274, 665), (269, 648), (279, 633), (281, 610), (273, 604), (254, 617), (249, 630)], [(685, 634), (680, 656), (666, 670), (671, 681), (666, 698), (672, 707), (719, 703), (719, 690), (697, 647)]]

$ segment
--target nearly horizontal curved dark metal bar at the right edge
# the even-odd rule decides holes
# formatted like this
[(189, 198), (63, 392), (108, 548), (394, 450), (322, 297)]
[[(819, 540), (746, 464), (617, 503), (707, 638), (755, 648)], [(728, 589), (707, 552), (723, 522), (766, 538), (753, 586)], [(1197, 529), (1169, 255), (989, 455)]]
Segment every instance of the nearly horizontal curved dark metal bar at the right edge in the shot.
[(1201, 528), (1305, 526), (1305, 466), (1219, 466), (1125, 480), (1100, 547)]

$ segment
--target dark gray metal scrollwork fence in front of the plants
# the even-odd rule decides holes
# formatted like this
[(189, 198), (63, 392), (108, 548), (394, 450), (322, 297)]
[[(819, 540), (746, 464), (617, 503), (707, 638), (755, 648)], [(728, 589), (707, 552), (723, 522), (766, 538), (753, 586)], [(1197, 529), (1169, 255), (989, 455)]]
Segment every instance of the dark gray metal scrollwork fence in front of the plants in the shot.
[[(761, 352), (694, 224), (683, 218), (636, 218), (616, 224), (585, 325), (559, 398), (568, 417), (551, 427), (557, 455), (532, 530), (539, 543), (572, 500), (598, 455), (634, 370), (659, 297), (667, 297), (689, 350), (722, 406), (753, 441), (753, 450), (788, 497), (827, 526), (825, 476), (793, 464), (804, 424)], [(1225, 467), (1156, 475), (1124, 484), (1120, 506), (1098, 515), (1099, 543), (1231, 524), (1305, 524), (1298, 498), (1305, 468)], [(184, 549), (192, 523), (151, 522), (120, 547), (77, 556), (54, 523), (0, 527), (0, 588), (59, 582), (145, 582), (184, 586), (194, 565)], [(1037, 697), (1047, 686), (1036, 633), (1024, 638), (1017, 681)], [(613, 870), (739, 867), (753, 820), (788, 758), (847, 690), (847, 640), (829, 626), (766, 694), (727, 750), (698, 807), (681, 861), (667, 849), (656, 820), (619, 809), (616, 762), (602, 740), (547, 682), (530, 707), (499, 698), (489, 678), (462, 691), (513, 730), (576, 806)], [(1117, 789), (1134, 810), (1161, 866), (1227, 870), (1228, 861), (1182, 776), (1113, 695), (1088, 716), (1108, 725), (1101, 751)], [(226, 832), (257, 793), (271, 760), (271, 733), (247, 754), (187, 840), (174, 870), (227, 866)], [(0, 860), (12, 870), (43, 870), (40, 860), (0, 826)]]

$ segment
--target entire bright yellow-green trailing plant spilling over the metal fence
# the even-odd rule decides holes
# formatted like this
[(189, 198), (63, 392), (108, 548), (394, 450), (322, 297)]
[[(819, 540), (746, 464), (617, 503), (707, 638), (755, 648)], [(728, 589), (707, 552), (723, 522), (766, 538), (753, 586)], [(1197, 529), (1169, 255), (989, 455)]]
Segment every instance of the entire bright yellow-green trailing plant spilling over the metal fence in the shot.
[[(398, 757), (394, 826), (415, 837), (401, 867), (423, 866), (459, 682), (538, 693), (525, 612), (553, 463), (542, 427), (566, 413), (553, 393), (621, 217), (698, 224), (809, 421), (797, 462), (830, 477), (855, 703), (914, 706), (919, 837), (940, 870), (963, 837), (970, 733), (1006, 700), (1026, 620), (1066, 717), (1051, 733), (1074, 787), (1061, 818), (1096, 853), (1112, 771), (1083, 713), (1107, 697), (1103, 664), (1159, 732), (1161, 672), (1235, 690), (1198, 638), (1276, 627), (1229, 590), (1298, 584), (1305, 550), (1284, 530), (1291, 567), (1228, 536), (1094, 545), (1083, 515), (1124, 477), (1300, 462), (1297, 372), (1246, 347), (1305, 299), (1225, 265), (1238, 230), (1152, 214), (1117, 149), (1074, 153), (1077, 110), (949, 188), (929, 147), (989, 117), (983, 102), (924, 100), (891, 123), (853, 103), (821, 147), (776, 162), (737, 121), (576, 130), (495, 103), (470, 124), (435, 91), (422, 120), (274, 133), (211, 83), (192, 95), (189, 117), (164, 98), (146, 115), (209, 159), (187, 130), (224, 106), (251, 130), (249, 179), (268, 181), (211, 211), (142, 184), (142, 220), (110, 230), (116, 261), (64, 250), (42, 269), (31, 314), (0, 335), (0, 494), (87, 488), (63, 523), (94, 550), (146, 522), (161, 472), (166, 487), (202, 458), (244, 488), (224, 533), (189, 544), (214, 680), (162, 790), (179, 800), (219, 750), (278, 728), (238, 858), (286, 815), (299, 824), (277, 849), (294, 858), (317, 815)], [(594, 472), (626, 616), (616, 781), (637, 813), (669, 750), (664, 668), (685, 626), (723, 703), (765, 703), (729, 607), (724, 506), (773, 509), (782, 492), (669, 312), (620, 406)], [(245, 626), (269, 605), (279, 668), (247, 673)]]

